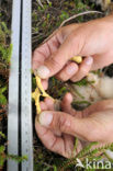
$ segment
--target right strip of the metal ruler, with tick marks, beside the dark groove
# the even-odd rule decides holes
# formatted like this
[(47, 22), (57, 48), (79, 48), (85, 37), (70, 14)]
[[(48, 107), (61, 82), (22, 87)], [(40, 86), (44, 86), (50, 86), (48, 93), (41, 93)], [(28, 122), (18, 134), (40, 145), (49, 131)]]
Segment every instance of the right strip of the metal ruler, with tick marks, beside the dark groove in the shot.
[(33, 135), (32, 135), (32, 105), (31, 105), (31, 0), (23, 0), (22, 27), (22, 156), (29, 157), (22, 163), (23, 171), (33, 170)]

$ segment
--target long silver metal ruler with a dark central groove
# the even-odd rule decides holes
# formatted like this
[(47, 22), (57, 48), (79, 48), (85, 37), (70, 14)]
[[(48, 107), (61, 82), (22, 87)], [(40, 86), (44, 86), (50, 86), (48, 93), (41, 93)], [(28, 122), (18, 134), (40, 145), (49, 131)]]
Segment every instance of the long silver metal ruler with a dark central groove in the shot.
[(33, 171), (31, 0), (13, 0), (12, 58), (9, 82), (8, 152), (27, 161), (8, 161), (8, 171)]

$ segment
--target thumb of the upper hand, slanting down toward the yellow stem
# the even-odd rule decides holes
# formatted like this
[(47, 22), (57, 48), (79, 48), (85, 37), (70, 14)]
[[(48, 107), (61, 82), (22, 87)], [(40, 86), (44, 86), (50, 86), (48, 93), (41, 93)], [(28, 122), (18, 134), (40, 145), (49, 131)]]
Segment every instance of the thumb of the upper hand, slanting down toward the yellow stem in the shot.
[(80, 38), (81, 37), (77, 35), (77, 33), (75, 34), (75, 32), (72, 32), (57, 52), (46, 58), (44, 65), (37, 68), (37, 75), (42, 79), (49, 78), (59, 72), (70, 58), (80, 55), (83, 46), (83, 41)]

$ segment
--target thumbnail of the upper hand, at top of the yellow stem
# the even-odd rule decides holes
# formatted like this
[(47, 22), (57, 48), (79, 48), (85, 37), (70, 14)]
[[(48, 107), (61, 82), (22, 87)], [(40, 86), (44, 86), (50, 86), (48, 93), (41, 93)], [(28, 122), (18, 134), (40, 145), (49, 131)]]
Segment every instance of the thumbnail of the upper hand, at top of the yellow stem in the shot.
[(42, 79), (46, 79), (49, 76), (49, 69), (45, 66), (41, 66), (37, 68), (36, 75), (38, 75)]

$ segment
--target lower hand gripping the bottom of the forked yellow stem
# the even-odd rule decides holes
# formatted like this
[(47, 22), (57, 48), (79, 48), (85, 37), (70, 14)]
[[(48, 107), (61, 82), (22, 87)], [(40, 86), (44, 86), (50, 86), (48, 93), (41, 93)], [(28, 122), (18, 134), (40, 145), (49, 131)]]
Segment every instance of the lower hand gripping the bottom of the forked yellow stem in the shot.
[[(39, 123), (35, 122), (38, 137), (46, 148), (66, 158), (74, 155), (75, 137), (84, 141), (99, 141), (100, 146), (113, 142), (113, 100), (98, 102), (82, 112), (71, 109), (72, 96), (68, 93), (63, 102), (64, 112), (54, 111), (54, 102), (41, 102)], [(61, 133), (57, 136), (56, 133)], [(60, 135), (60, 134), (59, 134)], [(79, 141), (78, 151), (82, 149)]]

